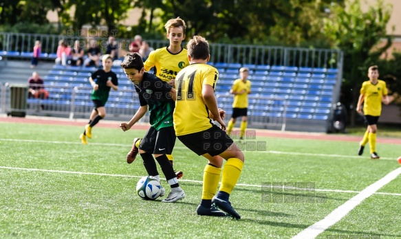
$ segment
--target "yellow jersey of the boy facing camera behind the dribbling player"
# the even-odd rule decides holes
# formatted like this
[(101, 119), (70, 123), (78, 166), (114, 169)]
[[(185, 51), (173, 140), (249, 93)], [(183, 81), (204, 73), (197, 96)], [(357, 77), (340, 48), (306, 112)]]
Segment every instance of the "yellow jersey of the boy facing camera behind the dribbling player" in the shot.
[(156, 76), (168, 82), (177, 76), (177, 73), (189, 65), (188, 52), (182, 48), (177, 54), (169, 52), (167, 47), (156, 49), (149, 54), (149, 58), (144, 62), (145, 71), (156, 67)]

